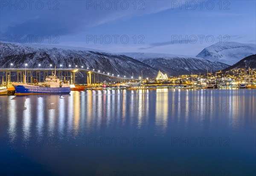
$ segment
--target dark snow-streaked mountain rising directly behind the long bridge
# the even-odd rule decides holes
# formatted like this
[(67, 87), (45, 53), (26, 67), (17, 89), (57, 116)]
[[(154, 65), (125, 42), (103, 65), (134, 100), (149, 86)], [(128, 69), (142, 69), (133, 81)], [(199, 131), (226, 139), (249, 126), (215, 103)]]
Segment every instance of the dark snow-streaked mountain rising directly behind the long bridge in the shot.
[[(143, 75), (154, 78), (157, 76), (156, 69), (132, 59), (125, 55), (87, 51), (85, 49), (63, 49), (47, 46), (20, 45), (10, 43), (0, 43), (0, 67), (9, 68), (13, 63), (15, 67), (25, 67), (25, 63), (29, 68), (49, 68), (49, 65), (59, 67), (61, 64), (64, 68), (69, 68), (69, 64), (74, 68), (89, 67), (90, 69), (100, 70), (101, 72), (109, 72), (110, 74), (131, 76), (134, 72), (134, 78), (138, 78), (143, 70)], [(80, 80), (84, 75), (78, 73)], [(79, 80), (79, 79), (76, 79)]]

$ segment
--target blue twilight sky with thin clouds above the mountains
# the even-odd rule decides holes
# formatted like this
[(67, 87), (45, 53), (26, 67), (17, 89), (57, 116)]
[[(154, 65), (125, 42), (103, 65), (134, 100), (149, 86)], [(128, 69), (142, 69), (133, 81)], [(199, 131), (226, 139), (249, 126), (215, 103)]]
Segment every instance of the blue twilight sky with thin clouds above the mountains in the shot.
[(0, 35), (12, 43), (195, 56), (220, 41), (256, 43), (256, 1), (0, 0)]

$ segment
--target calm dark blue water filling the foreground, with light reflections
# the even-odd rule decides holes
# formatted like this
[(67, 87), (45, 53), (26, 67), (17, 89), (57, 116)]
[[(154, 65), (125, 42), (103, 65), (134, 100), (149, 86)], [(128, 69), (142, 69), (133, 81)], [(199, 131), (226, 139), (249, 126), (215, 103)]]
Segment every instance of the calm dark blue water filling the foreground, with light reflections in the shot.
[(256, 89), (1, 96), (3, 175), (253, 176)]

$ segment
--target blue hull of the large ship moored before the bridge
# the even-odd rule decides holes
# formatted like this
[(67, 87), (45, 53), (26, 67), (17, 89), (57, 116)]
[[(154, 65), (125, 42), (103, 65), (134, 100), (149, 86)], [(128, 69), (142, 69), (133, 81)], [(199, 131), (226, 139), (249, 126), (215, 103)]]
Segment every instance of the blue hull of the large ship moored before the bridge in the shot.
[(39, 87), (39, 86), (15, 86), (15, 95), (29, 95), (29, 94), (64, 94), (70, 93), (70, 87)]

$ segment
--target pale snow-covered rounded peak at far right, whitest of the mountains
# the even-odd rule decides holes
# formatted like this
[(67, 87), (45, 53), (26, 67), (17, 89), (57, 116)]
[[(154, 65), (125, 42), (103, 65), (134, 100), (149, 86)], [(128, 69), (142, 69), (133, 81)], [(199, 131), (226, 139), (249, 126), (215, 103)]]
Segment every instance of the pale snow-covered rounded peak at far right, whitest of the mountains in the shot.
[(215, 43), (203, 49), (196, 57), (233, 65), (241, 59), (254, 54), (256, 54), (255, 44), (229, 42), (229, 44)]

